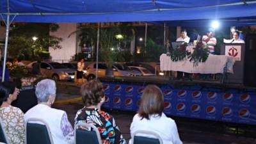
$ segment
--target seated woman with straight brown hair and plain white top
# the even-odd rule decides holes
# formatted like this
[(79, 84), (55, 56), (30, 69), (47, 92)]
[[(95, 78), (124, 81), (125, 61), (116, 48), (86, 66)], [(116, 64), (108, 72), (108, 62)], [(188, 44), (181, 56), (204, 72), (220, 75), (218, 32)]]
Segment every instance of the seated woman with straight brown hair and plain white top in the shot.
[[(163, 93), (157, 86), (148, 85), (141, 96), (140, 109), (132, 120), (131, 136), (138, 130), (154, 131), (164, 144), (182, 144), (175, 121), (164, 115), (163, 111)], [(138, 135), (152, 137), (148, 134)]]

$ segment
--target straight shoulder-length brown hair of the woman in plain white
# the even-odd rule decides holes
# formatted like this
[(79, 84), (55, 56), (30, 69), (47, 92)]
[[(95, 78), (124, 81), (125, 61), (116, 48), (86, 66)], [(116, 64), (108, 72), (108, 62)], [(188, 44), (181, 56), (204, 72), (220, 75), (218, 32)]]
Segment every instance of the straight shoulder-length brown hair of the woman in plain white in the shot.
[(162, 116), (164, 111), (164, 97), (163, 93), (156, 85), (146, 86), (140, 102), (140, 109), (138, 111), (141, 119), (150, 119), (150, 115)]

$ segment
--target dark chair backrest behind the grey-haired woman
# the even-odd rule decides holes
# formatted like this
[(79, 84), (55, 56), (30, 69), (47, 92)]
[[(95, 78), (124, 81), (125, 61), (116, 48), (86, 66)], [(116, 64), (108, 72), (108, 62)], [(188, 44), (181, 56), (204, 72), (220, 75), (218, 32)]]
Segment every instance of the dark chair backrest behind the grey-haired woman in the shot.
[(26, 121), (26, 144), (53, 144), (49, 125), (39, 118)]

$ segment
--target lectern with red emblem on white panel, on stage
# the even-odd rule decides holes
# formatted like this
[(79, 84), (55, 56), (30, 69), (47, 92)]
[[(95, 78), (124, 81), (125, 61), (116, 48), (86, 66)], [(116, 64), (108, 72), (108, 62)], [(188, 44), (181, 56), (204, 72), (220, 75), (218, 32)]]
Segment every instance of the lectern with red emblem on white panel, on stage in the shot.
[(234, 74), (227, 74), (225, 83), (244, 83), (244, 44), (222, 44), (220, 49), (221, 55), (232, 56), (235, 58), (233, 67)]

